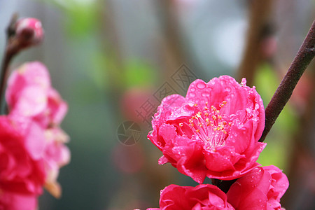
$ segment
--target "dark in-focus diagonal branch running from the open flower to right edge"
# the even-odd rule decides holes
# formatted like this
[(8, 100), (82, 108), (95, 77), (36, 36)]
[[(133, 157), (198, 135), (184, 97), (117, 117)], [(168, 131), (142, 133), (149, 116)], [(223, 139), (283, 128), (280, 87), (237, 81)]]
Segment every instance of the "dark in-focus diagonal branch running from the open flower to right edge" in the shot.
[(295, 55), (293, 62), (291, 63), (286, 76), (284, 76), (278, 89), (274, 93), (271, 101), (269, 102), (265, 114), (265, 130), (262, 132), (260, 142), (264, 141), (267, 134), (274, 125), (276, 118), (278, 118), (283, 107), (290, 99), (292, 92), (300, 80), (305, 69), (315, 56), (315, 21), (311, 25), (307, 36), (305, 37), (300, 49)]

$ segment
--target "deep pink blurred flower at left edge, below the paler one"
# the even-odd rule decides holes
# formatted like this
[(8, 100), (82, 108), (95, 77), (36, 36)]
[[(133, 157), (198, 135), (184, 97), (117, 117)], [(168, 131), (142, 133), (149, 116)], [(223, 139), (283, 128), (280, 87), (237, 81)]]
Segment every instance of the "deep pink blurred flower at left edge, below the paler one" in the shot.
[(0, 207), (11, 197), (12, 202), (27, 200), (43, 192), (43, 138), (43, 130), (31, 120), (0, 116)]

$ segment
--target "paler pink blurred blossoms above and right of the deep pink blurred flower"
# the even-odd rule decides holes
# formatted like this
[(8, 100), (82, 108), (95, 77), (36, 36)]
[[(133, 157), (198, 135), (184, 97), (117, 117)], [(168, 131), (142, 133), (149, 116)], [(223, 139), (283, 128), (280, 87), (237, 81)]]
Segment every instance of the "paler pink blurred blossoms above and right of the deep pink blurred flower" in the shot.
[(55, 197), (60, 197), (57, 176), (59, 168), (69, 163), (70, 152), (64, 145), (69, 137), (59, 124), (68, 106), (51, 87), (48, 69), (40, 62), (29, 62), (13, 71), (8, 78), (6, 100), (10, 116), (27, 118), (41, 127), (41, 141), (44, 144), (41, 158), (47, 173), (45, 188)]

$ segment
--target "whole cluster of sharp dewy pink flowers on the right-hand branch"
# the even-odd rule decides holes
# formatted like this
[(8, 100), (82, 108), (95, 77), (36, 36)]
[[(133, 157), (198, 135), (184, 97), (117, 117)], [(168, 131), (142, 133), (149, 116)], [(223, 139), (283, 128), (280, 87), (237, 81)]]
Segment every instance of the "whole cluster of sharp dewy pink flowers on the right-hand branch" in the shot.
[[(265, 127), (265, 109), (255, 87), (230, 76), (209, 83), (195, 80), (186, 97), (162, 100), (148, 139), (167, 162), (200, 186), (168, 186), (160, 209), (281, 209), (288, 179), (274, 166), (256, 162), (266, 144), (258, 140)], [(201, 184), (204, 179), (233, 180), (228, 193)]]

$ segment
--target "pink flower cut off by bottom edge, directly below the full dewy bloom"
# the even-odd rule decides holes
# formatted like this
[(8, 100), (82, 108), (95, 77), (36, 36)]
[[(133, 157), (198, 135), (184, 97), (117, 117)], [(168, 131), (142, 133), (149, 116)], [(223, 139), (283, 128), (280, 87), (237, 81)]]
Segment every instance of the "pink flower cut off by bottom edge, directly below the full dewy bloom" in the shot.
[[(234, 209), (218, 187), (202, 184), (196, 187), (167, 186), (161, 190), (160, 210), (219, 210)], [(148, 210), (159, 210), (151, 208)]]

